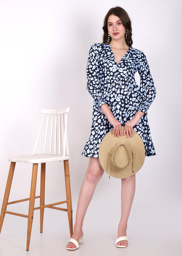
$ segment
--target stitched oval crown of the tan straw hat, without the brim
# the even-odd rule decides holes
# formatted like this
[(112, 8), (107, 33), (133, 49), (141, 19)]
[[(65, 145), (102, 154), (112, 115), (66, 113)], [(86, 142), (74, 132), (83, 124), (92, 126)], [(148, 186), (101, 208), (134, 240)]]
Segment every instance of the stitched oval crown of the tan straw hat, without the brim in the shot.
[(125, 169), (132, 163), (132, 149), (128, 142), (118, 141), (111, 149), (111, 161), (120, 169)]

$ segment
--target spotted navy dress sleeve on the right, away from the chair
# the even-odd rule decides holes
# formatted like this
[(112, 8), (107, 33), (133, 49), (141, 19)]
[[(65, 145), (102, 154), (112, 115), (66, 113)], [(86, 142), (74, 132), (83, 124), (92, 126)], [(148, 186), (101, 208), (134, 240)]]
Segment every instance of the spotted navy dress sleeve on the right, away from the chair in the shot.
[(140, 105), (137, 111), (147, 113), (155, 98), (156, 91), (146, 56), (143, 53), (140, 54), (138, 72), (140, 74)]

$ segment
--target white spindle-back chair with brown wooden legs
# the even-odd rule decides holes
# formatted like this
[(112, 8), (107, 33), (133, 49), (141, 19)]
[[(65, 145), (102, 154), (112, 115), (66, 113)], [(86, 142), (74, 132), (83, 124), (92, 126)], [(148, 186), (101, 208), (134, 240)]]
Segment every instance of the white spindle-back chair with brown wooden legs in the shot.
[[(73, 233), (71, 188), (70, 188), (69, 162), (68, 162), (68, 160), (70, 159), (70, 155), (68, 152), (68, 137), (67, 137), (68, 112), (69, 112), (69, 108), (59, 109), (59, 110), (42, 109), (41, 113), (43, 115), (42, 115), (41, 123), (39, 126), (39, 131), (38, 131), (36, 143), (34, 146), (33, 154), (32, 155), (15, 156), (15, 157), (8, 159), (11, 162), (11, 164), (10, 164), (8, 180), (7, 180), (6, 188), (5, 188), (4, 199), (3, 199), (3, 203), (2, 203), (2, 210), (1, 210), (1, 216), (0, 216), (0, 232), (1, 232), (5, 213), (28, 218), (27, 247), (26, 247), (27, 251), (29, 250), (29, 245), (30, 245), (30, 235), (31, 235), (31, 229), (32, 229), (34, 210), (40, 209), (40, 232), (41, 233), (42, 233), (42, 229), (43, 229), (44, 208), (46, 208), (46, 207), (56, 209), (56, 210), (67, 211), (70, 236), (72, 236), (72, 233)], [(42, 132), (43, 132), (42, 124), (44, 123), (43, 120), (46, 115), (47, 115), (47, 119), (46, 119), (46, 127), (45, 127), (43, 153), (35, 154), (36, 148), (38, 145), (38, 141), (40, 138), (40, 134), (42, 134)], [(49, 133), (49, 138), (48, 138), (48, 133)], [(49, 140), (48, 153), (46, 153), (46, 146), (48, 144), (47, 138)], [(58, 143), (57, 143), (57, 141), (58, 141)], [(52, 147), (52, 144), (54, 144), (53, 147)], [(45, 205), (44, 204), (45, 164), (46, 164), (46, 162), (54, 162), (54, 161), (62, 161), (62, 160), (64, 161), (66, 200)], [(25, 198), (25, 199), (13, 201), (13, 202), (8, 202), (16, 162), (32, 163), (33, 164), (31, 188), (30, 188), (30, 198)], [(39, 163), (41, 163), (40, 196), (35, 196), (36, 183), (37, 183), (37, 171), (38, 171)], [(40, 207), (34, 208), (34, 202), (35, 202), (36, 198), (40, 198)], [(23, 201), (28, 201), (28, 200), (29, 200), (28, 215), (20, 214), (20, 213), (16, 213), (16, 212), (10, 212), (10, 211), (6, 210), (7, 205), (10, 205), (13, 203), (18, 203), (18, 202), (23, 202)], [(55, 207), (56, 205), (60, 205), (62, 203), (67, 203), (67, 209)]]

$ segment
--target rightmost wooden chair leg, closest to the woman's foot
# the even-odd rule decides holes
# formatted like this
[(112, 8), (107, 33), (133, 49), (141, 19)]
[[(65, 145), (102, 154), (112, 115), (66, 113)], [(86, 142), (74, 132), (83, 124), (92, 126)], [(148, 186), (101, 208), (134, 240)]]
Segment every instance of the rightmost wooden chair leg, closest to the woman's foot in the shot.
[(73, 234), (73, 218), (72, 218), (72, 202), (71, 202), (71, 186), (70, 186), (70, 172), (69, 172), (69, 161), (64, 160), (64, 170), (65, 170), (65, 185), (66, 185), (66, 199), (67, 199), (67, 209), (68, 209), (68, 221), (70, 229), (70, 237)]

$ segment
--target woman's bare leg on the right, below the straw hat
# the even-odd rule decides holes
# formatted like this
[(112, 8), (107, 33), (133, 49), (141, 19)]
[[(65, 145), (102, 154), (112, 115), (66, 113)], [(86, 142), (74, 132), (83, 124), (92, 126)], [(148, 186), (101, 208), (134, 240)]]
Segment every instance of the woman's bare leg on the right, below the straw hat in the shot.
[[(118, 225), (118, 237), (126, 236), (127, 221), (135, 195), (135, 175), (121, 179), (121, 220)], [(127, 245), (127, 241), (118, 242), (117, 245)]]

